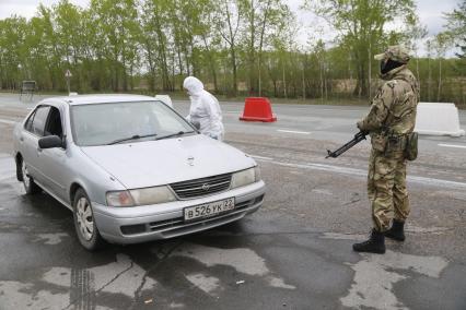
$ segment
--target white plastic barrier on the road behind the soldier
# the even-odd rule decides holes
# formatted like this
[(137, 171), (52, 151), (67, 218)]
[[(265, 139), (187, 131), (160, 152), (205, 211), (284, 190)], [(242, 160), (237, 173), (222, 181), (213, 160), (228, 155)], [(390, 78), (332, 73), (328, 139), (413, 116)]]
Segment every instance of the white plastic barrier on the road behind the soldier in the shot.
[(419, 103), (416, 129), (420, 134), (461, 136), (458, 109), (454, 104)]

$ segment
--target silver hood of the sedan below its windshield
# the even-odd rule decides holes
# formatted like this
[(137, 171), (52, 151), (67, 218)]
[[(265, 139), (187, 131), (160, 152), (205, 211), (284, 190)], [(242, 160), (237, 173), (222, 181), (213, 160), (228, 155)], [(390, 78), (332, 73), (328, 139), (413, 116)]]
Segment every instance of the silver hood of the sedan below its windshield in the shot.
[(201, 134), (81, 150), (128, 189), (233, 172), (256, 165), (243, 152)]

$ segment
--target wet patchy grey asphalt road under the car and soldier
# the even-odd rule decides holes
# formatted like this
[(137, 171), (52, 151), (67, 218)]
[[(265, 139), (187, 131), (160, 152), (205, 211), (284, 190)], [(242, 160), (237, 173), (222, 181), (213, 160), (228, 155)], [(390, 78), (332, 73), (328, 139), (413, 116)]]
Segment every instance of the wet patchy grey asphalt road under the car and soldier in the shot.
[[(187, 102), (174, 104), (187, 114)], [(222, 103), (225, 142), (261, 166), (263, 208), (202, 234), (89, 253), (71, 213), (47, 194), (25, 196), (13, 176), (12, 126), (32, 107), (0, 95), (0, 309), (466, 309), (464, 136), (421, 138), (407, 240), (359, 254), (370, 145), (324, 157), (368, 107), (273, 105), (277, 122), (251, 123), (237, 120), (243, 104)]]

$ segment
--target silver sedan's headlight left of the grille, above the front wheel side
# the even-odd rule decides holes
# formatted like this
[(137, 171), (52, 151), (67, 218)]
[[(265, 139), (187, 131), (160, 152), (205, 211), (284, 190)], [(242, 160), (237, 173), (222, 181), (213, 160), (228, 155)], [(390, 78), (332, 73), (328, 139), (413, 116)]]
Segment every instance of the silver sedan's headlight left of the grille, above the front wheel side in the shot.
[(167, 187), (154, 187), (107, 193), (107, 204), (113, 206), (149, 205), (175, 201)]

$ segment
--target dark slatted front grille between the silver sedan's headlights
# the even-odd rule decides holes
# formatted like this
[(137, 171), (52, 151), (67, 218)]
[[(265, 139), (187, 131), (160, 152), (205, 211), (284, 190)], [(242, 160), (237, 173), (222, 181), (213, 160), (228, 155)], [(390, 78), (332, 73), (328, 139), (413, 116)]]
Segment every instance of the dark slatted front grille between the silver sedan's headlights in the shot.
[(232, 174), (219, 175), (170, 184), (180, 199), (190, 199), (222, 192), (230, 188)]

